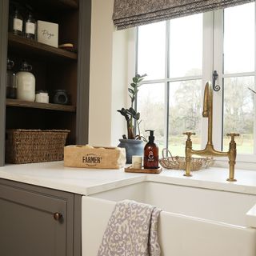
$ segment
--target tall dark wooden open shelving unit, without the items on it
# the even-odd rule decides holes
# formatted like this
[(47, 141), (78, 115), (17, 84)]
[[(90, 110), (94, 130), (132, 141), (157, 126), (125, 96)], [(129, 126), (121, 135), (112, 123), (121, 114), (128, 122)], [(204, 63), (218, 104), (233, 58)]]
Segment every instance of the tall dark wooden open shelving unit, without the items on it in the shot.
[[(88, 142), (91, 0), (0, 0), (0, 166), (5, 165), (6, 130), (70, 130), (67, 144)], [(70, 42), (76, 52), (48, 46), (11, 32), (9, 23), (19, 8), (24, 20), (58, 24), (58, 44)], [(24, 22), (24, 21), (23, 21)], [(35, 91), (66, 90), (70, 105), (6, 98), (6, 60), (13, 72), (25, 60), (33, 69)]]

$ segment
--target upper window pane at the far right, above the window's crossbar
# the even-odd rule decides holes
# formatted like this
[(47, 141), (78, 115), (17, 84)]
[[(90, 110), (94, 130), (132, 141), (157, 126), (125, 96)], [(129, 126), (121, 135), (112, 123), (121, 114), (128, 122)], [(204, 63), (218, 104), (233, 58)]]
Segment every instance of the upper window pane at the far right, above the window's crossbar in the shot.
[(254, 2), (224, 11), (224, 73), (254, 71)]

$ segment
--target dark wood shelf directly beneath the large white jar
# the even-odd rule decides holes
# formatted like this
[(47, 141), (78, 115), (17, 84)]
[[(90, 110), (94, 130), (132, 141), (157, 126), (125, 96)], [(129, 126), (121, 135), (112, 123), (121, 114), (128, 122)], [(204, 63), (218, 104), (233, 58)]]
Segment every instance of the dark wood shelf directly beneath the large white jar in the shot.
[(11, 98), (6, 98), (6, 106), (29, 107), (29, 108), (34, 108), (34, 109), (58, 110), (58, 111), (66, 111), (66, 112), (75, 112), (76, 111), (76, 107), (73, 105), (26, 102), (26, 101), (21, 101), (18, 99), (11, 99)]

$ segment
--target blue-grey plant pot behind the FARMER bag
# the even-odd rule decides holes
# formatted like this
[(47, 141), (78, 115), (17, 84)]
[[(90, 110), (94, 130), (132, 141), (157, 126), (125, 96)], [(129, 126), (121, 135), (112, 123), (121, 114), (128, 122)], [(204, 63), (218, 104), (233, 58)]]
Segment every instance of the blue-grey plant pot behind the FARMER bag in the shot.
[(119, 139), (119, 147), (124, 147), (126, 149), (126, 163), (132, 162), (133, 155), (144, 154), (144, 142), (137, 139)]

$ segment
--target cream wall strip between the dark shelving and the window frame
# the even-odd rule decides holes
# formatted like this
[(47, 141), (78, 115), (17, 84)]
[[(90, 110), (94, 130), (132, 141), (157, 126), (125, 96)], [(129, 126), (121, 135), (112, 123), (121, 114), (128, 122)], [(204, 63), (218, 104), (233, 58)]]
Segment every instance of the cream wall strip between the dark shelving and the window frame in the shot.
[(92, 1), (90, 48), (89, 144), (117, 146), (125, 119), (117, 112), (126, 107), (127, 30), (115, 31), (114, 0)]

